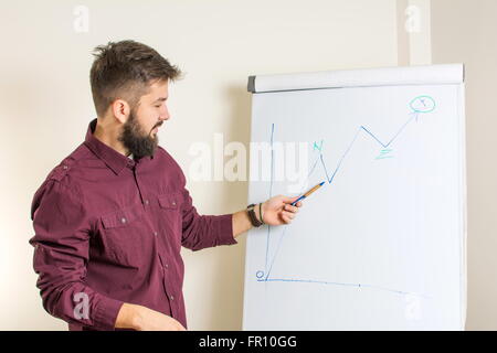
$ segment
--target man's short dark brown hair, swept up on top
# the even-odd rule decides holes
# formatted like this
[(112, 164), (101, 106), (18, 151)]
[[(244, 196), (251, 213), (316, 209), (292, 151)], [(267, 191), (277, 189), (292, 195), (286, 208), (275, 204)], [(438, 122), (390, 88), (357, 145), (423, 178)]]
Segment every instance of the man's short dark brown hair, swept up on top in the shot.
[(181, 71), (157, 51), (135, 41), (108, 42), (93, 51), (95, 61), (89, 72), (93, 101), (103, 117), (116, 99), (134, 108), (149, 86), (157, 81), (175, 81)]

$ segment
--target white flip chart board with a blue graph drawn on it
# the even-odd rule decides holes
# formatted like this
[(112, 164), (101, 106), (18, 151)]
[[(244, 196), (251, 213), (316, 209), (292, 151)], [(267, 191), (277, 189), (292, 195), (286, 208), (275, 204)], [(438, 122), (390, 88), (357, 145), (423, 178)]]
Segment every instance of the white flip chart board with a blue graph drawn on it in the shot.
[(250, 77), (244, 330), (464, 330), (464, 66)]

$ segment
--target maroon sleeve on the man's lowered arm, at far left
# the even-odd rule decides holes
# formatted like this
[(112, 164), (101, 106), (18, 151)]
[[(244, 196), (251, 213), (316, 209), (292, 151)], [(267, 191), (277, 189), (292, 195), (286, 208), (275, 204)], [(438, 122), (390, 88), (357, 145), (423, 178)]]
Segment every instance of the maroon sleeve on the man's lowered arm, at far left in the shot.
[(43, 308), (70, 324), (114, 330), (123, 301), (85, 284), (91, 222), (83, 195), (53, 180), (42, 188), (33, 201), (30, 244)]

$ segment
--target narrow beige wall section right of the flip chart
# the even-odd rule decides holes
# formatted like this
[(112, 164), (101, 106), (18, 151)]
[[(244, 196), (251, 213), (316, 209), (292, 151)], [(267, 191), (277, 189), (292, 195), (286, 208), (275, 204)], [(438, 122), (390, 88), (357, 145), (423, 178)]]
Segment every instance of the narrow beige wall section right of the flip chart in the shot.
[(497, 1), (432, 0), (433, 62), (466, 64), (468, 330), (497, 330)]

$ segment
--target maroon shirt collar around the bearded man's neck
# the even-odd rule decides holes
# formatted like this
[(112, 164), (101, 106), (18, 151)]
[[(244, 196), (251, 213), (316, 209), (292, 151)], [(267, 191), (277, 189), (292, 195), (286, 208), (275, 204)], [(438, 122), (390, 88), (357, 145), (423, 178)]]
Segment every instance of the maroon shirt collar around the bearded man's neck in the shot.
[(84, 143), (117, 175), (126, 165), (134, 165), (136, 162), (140, 162), (141, 160), (154, 159), (154, 156), (151, 156), (141, 158), (138, 161), (134, 161), (133, 159), (117, 152), (115, 149), (105, 145), (93, 135), (96, 128), (96, 124), (97, 119), (94, 119), (89, 122)]

